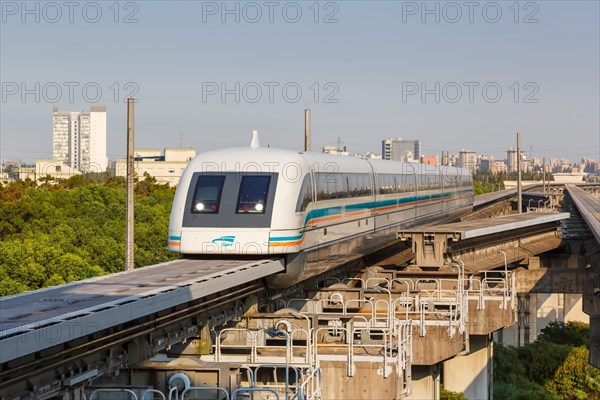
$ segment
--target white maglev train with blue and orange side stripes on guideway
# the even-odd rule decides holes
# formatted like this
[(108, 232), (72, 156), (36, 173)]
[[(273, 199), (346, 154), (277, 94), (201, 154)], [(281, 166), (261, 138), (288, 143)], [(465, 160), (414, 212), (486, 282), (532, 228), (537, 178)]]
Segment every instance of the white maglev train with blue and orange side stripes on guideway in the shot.
[(168, 246), (184, 258), (283, 257), (286, 271), (268, 283), (287, 287), (472, 205), (466, 169), (264, 148), (256, 136), (190, 161)]

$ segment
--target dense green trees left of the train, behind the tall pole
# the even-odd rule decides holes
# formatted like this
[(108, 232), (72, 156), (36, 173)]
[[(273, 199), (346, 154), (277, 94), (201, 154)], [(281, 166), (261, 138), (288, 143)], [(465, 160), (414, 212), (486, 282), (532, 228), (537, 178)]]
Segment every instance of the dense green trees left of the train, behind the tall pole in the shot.
[[(166, 247), (175, 190), (136, 182), (135, 265), (176, 258)], [(76, 175), (0, 185), (0, 295), (122, 271), (125, 180)]]

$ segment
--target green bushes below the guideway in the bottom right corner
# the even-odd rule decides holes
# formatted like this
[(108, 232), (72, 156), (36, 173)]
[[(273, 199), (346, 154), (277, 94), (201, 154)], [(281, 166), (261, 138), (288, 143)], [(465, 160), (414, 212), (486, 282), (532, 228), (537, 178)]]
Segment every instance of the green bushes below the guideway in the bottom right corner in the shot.
[(552, 322), (529, 345), (494, 347), (494, 399), (600, 399), (600, 370), (588, 364), (589, 326)]

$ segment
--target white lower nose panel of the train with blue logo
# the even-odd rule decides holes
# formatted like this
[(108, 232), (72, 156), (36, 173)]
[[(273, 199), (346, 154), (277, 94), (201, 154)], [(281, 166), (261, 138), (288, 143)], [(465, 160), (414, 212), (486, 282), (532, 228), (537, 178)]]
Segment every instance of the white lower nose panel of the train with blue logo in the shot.
[(183, 254), (268, 254), (268, 229), (202, 229), (181, 233)]

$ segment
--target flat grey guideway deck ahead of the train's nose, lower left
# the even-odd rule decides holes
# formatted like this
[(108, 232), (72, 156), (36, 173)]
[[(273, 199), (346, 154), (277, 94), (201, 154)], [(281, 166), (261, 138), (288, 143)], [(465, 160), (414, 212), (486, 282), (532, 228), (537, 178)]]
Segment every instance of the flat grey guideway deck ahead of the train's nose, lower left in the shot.
[(282, 272), (281, 259), (177, 260), (0, 299), (0, 363)]

